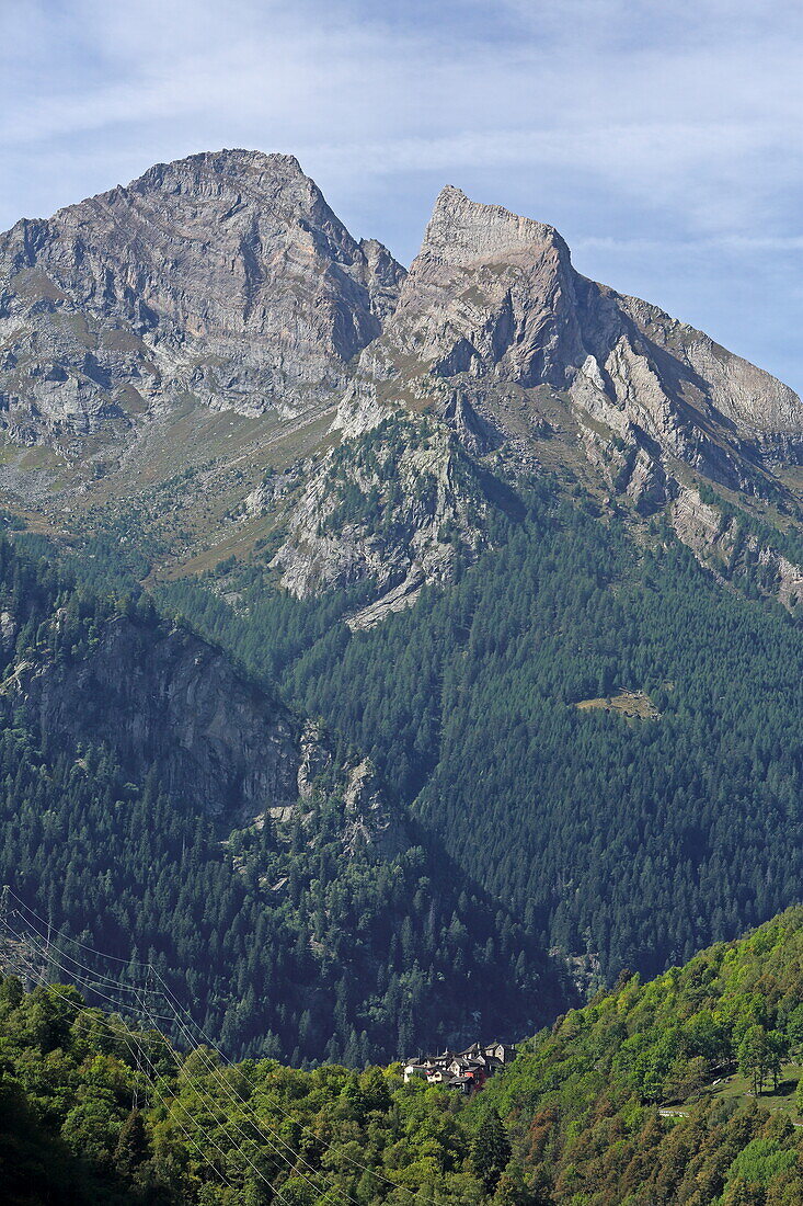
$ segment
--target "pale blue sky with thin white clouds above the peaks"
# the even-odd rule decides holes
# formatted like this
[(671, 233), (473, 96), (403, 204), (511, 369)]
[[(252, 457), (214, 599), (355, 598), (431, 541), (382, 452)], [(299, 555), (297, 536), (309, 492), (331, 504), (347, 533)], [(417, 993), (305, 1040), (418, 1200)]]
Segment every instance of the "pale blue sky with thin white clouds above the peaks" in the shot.
[(803, 5), (0, 0), (0, 229), (286, 151), (403, 262), (445, 183), (803, 390)]

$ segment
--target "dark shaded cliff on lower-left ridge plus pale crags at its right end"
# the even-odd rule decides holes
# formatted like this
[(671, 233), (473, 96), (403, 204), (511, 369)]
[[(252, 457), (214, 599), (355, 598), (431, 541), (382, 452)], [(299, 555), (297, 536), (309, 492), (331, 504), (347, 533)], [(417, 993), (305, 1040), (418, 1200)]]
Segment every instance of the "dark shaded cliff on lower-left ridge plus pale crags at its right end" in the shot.
[(84, 656), (27, 660), (4, 691), (51, 739), (107, 745), (133, 779), (156, 772), (175, 798), (200, 803), (229, 829), (265, 814), (292, 822), (334, 794), (345, 806), (344, 850), (362, 842), (392, 857), (410, 844), (370, 763), (338, 763), (318, 726), (183, 628), (118, 616)]

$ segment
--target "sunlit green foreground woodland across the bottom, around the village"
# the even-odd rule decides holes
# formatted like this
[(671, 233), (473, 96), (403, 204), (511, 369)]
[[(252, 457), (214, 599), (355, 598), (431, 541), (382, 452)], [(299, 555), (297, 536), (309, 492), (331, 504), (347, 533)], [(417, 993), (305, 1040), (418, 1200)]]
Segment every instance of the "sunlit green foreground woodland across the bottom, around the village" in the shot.
[(14, 1206), (796, 1206), (802, 1042), (799, 908), (657, 980), (625, 973), (473, 1097), (399, 1064), (225, 1067), (10, 977), (0, 1169)]

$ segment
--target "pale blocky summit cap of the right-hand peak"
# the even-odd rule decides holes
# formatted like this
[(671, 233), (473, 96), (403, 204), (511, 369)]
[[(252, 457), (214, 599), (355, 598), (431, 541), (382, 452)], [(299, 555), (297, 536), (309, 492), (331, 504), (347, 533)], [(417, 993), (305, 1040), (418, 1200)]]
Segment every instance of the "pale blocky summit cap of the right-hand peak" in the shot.
[(521, 217), (502, 205), (473, 201), (462, 189), (447, 185), (435, 200), (421, 256), (447, 264), (470, 264), (539, 254), (545, 246), (558, 246), (568, 254), (567, 245), (553, 227)]

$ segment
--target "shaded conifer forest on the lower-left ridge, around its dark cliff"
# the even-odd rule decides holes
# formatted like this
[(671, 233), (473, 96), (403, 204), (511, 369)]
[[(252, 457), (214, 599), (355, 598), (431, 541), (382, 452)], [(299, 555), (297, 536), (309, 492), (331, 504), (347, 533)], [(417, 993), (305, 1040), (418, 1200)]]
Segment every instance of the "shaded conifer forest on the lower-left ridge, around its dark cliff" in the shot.
[[(5, 541), (0, 611), (6, 687), (20, 666), (77, 671), (121, 616), (154, 642), (169, 627), (147, 597), (99, 598)], [(515, 1037), (561, 1007), (543, 949), (424, 831), (345, 856), (344, 807), (333, 779), (303, 825), (233, 830), (158, 765), (131, 781), (113, 750), (55, 739), (0, 692), (0, 883), (69, 936), (153, 962), (229, 1055), (362, 1065), (480, 1025)]]

